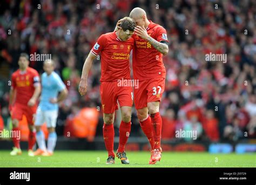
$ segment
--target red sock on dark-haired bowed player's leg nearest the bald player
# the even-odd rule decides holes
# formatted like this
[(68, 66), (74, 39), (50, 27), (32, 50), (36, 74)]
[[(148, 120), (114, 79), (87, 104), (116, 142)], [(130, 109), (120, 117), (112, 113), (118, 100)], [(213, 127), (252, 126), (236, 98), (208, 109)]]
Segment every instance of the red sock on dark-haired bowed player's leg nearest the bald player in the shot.
[(131, 121), (130, 122), (124, 122), (121, 121), (120, 127), (119, 127), (119, 146), (117, 151), (118, 152), (124, 152), (125, 144), (129, 138), (131, 132)]

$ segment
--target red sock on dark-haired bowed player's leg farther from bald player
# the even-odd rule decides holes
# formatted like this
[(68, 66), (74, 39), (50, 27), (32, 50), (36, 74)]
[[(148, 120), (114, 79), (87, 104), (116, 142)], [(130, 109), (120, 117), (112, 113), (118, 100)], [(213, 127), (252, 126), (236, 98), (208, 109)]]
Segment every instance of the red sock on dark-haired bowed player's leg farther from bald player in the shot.
[(106, 146), (106, 150), (109, 153), (109, 156), (114, 155), (114, 125), (107, 125), (104, 123), (103, 126), (103, 138)]

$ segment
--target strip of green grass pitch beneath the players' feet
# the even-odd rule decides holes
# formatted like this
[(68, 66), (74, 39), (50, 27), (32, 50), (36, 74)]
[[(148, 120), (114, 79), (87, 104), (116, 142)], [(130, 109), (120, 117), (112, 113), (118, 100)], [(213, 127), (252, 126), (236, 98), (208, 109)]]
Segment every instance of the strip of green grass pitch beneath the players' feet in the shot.
[(57, 150), (53, 156), (10, 156), (0, 150), (0, 167), (256, 167), (254, 154), (209, 154), (195, 152), (163, 152), (156, 165), (149, 165), (150, 152), (126, 152), (130, 165), (122, 165), (116, 158), (114, 165), (105, 165), (105, 151)]

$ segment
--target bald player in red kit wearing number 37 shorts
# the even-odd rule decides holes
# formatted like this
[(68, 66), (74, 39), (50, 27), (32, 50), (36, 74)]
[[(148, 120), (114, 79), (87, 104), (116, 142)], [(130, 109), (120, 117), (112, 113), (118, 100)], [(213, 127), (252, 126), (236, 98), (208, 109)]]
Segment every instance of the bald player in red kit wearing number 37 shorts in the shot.
[(139, 80), (139, 88), (134, 88), (134, 104), (140, 126), (151, 144), (150, 164), (154, 164), (161, 159), (159, 106), (166, 76), (162, 57), (169, 51), (168, 39), (166, 30), (148, 20), (143, 9), (134, 8), (130, 17), (137, 24), (133, 35), (132, 68), (134, 79)]

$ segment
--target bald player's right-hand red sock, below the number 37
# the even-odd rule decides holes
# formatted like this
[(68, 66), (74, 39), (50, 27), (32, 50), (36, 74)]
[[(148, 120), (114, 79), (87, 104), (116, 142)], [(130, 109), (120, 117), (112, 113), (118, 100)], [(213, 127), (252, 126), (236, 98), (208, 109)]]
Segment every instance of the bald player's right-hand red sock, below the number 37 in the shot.
[(160, 150), (162, 119), (160, 113), (150, 114), (154, 134), (154, 149)]

